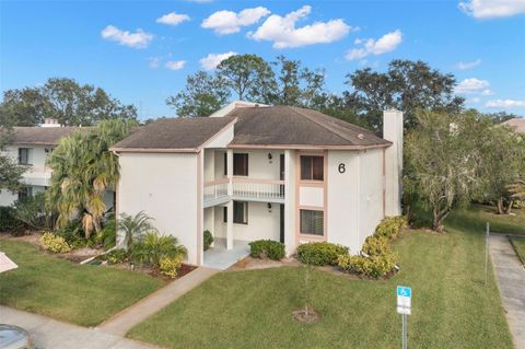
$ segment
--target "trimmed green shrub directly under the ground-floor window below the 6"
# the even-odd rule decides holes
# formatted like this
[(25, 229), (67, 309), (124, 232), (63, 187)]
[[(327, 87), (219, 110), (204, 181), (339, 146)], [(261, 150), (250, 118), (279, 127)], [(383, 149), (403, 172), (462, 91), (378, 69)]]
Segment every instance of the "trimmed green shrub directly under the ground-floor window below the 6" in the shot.
[(299, 260), (314, 266), (337, 266), (339, 255), (348, 255), (348, 247), (327, 242), (301, 244), (298, 247)]

